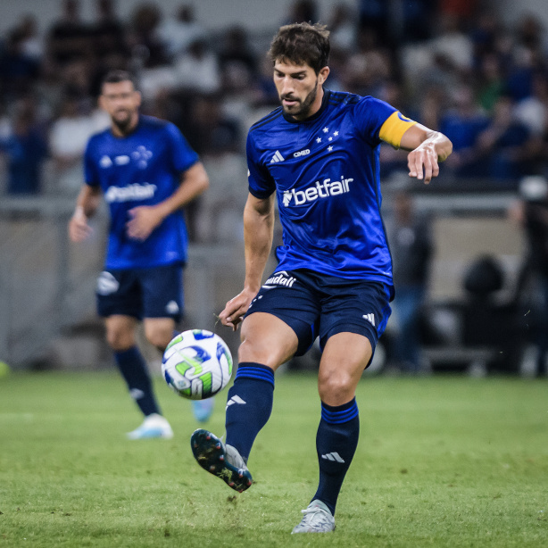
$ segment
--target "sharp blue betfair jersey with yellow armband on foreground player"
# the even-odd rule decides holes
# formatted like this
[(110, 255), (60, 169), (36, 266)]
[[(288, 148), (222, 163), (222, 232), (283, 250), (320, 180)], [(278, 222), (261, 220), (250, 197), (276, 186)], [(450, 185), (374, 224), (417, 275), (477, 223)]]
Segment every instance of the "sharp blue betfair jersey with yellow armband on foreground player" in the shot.
[(310, 269), (392, 286), (380, 216), (381, 140), (399, 146), (415, 122), (372, 97), (324, 90), (320, 111), (296, 121), (278, 108), (247, 137), (249, 191), (278, 192), (278, 270)]

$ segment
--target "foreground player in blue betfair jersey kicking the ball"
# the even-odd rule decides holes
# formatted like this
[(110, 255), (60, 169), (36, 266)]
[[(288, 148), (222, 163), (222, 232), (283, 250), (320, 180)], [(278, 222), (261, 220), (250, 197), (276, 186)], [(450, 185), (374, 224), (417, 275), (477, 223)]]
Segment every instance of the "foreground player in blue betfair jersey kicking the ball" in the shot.
[[(226, 444), (204, 429), (191, 438), (204, 469), (237, 491), (251, 486), (246, 464), (270, 418), (274, 372), (319, 336), (320, 482), (293, 533), (335, 528), (336, 501), (358, 444), (356, 386), (394, 297), (380, 217), (380, 142), (411, 151), (409, 175), (425, 183), (452, 151), (447, 137), (389, 104), (324, 88), (328, 34), (318, 24), (286, 25), (270, 46), (281, 106), (249, 130), (245, 285), (220, 312), (228, 327), (242, 322)], [(283, 245), (278, 268), (262, 284), (275, 196)]]

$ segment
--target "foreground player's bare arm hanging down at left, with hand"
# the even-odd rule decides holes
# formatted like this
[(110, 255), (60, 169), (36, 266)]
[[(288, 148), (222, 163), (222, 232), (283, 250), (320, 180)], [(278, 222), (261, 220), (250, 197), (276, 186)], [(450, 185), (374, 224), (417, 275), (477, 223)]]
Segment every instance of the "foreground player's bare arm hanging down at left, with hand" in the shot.
[(247, 196), (244, 209), (245, 282), (241, 293), (230, 299), (219, 318), (235, 331), (259, 292), (262, 273), (269, 259), (274, 233), (274, 194), (268, 198)]

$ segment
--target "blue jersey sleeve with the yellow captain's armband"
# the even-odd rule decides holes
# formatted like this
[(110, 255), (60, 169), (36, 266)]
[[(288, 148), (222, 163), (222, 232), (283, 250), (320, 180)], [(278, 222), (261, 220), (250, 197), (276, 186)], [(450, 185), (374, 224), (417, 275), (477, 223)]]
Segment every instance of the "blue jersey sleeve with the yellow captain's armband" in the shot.
[(373, 145), (385, 141), (399, 148), (403, 134), (414, 125), (415, 121), (405, 118), (390, 104), (363, 97), (356, 105), (356, 124), (363, 137)]

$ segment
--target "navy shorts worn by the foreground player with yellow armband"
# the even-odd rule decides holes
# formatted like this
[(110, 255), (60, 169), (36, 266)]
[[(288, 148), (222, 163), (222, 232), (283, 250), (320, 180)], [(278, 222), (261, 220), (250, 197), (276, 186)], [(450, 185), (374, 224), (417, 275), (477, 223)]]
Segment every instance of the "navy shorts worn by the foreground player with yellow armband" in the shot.
[(336, 278), (311, 270), (274, 272), (245, 316), (273, 314), (295, 331), (303, 355), (320, 336), (320, 347), (336, 333), (367, 336), (375, 352), (392, 312), (390, 288), (377, 281)]

